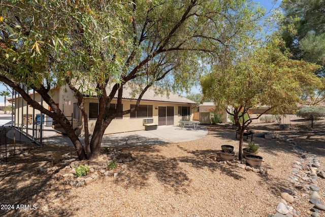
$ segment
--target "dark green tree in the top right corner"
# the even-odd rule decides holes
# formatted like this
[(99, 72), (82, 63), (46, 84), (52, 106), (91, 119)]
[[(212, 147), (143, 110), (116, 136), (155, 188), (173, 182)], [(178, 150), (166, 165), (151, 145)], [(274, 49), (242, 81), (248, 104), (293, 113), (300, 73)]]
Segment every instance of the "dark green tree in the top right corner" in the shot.
[(282, 37), (291, 57), (325, 66), (325, 1), (286, 0), (281, 8)]

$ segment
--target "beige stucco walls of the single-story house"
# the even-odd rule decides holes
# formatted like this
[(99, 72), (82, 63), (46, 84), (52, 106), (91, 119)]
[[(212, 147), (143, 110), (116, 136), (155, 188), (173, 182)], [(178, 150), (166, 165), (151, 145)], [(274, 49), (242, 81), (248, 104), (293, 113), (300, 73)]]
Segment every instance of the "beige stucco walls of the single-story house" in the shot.
[[(58, 104), (61, 111), (63, 111), (64, 115), (69, 116), (69, 119), (71, 119), (71, 114), (73, 113), (73, 104), (77, 102), (77, 99), (74, 97), (73, 92), (69, 88), (56, 88), (52, 89), (50, 91), (51, 96), (53, 97), (53, 100)], [(31, 95), (31, 98), (34, 96)], [(41, 102), (41, 97), (38, 93), (35, 94), (35, 100), (37, 102)], [(19, 101), (19, 105), (18, 105)], [(23, 101), (23, 107), (22, 107), (22, 101)], [(84, 107), (86, 112), (89, 111), (89, 102), (98, 103), (98, 99), (96, 98), (85, 98), (84, 100)], [(117, 103), (116, 100), (113, 100), (112, 103)], [(135, 100), (123, 100), (123, 110), (127, 110), (131, 108), (131, 104), (136, 104)], [(192, 120), (193, 117), (193, 110), (191, 109), (191, 115), (190, 116), (178, 116), (178, 106), (188, 106), (191, 107), (189, 104), (177, 104), (177, 103), (165, 103), (165, 102), (151, 102), (151, 101), (141, 101), (141, 105), (152, 105), (153, 111), (152, 111), (152, 117), (153, 123), (158, 125), (158, 107), (159, 106), (171, 106), (174, 108), (174, 125), (179, 125), (178, 121), (180, 120)], [(48, 104), (43, 101), (44, 108), (48, 109)], [(16, 98), (16, 107), (15, 107), (15, 118), (16, 123), (21, 124), (23, 120), (23, 114), (32, 114), (33, 109), (32, 107), (28, 106), (28, 111), (26, 102), (22, 100), (21, 97)], [(40, 114), (40, 111), (35, 110), (35, 115), (32, 117), (35, 119), (36, 115)], [(47, 120), (47, 115), (44, 117), (45, 121)], [(105, 134), (113, 134), (113, 133), (122, 133), (122, 132), (130, 132), (130, 131), (138, 131), (138, 130), (145, 130), (145, 126), (143, 125), (143, 119), (144, 118), (130, 118), (129, 114), (126, 114), (123, 116), (122, 119), (114, 119), (108, 126), (108, 128), (105, 131)], [(81, 112), (79, 112), (79, 125), (83, 125), (83, 117), (81, 115)], [(92, 134), (94, 126), (95, 126), (96, 120), (88, 119), (88, 126), (89, 126), (89, 133)], [(46, 124), (46, 123), (45, 123)], [(74, 128), (77, 126), (74, 125)], [(84, 133), (84, 128), (81, 128), (80, 134)]]

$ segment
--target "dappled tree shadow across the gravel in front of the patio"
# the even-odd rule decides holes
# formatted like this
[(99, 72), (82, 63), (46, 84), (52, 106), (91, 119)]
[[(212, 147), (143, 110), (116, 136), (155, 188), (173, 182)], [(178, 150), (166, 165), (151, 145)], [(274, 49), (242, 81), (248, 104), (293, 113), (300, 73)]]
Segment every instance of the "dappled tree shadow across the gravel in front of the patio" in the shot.
[[(165, 188), (171, 188), (175, 193), (188, 193), (191, 180), (182, 167), (182, 163), (190, 164), (197, 169), (208, 168), (211, 172), (222, 172), (235, 179), (245, 179), (236, 168), (228, 165), (218, 164), (213, 160), (217, 151), (213, 149), (190, 151), (181, 146), (177, 146), (188, 153), (186, 157), (168, 158), (160, 154), (161, 145), (125, 147), (120, 150), (136, 151), (136, 161), (129, 165), (129, 173), (118, 176), (116, 184), (126, 183), (124, 188), (146, 188), (151, 175), (157, 179)], [(148, 155), (148, 153), (152, 153)]]

